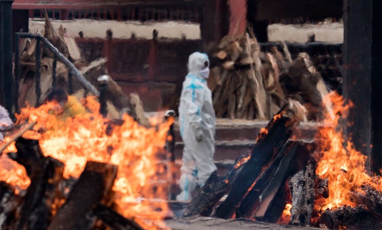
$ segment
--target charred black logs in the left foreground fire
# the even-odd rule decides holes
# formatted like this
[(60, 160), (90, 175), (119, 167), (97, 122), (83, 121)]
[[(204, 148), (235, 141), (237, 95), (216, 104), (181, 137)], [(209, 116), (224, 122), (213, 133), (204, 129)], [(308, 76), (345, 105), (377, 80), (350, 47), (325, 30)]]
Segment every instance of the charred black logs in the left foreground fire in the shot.
[(79, 179), (67, 180), (65, 165), (45, 157), (39, 141), (18, 138), (16, 148), (8, 157), (25, 167), (31, 184), (16, 195), (0, 182), (1, 229), (143, 229), (111, 208), (116, 165), (88, 161)]

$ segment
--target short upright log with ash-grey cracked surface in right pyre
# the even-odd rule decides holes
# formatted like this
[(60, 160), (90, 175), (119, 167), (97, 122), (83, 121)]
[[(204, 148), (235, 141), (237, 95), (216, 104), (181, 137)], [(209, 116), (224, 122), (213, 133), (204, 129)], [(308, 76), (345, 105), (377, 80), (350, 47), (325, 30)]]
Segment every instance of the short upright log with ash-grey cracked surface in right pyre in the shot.
[(291, 224), (309, 226), (315, 200), (316, 162), (311, 160), (288, 182), (292, 194)]

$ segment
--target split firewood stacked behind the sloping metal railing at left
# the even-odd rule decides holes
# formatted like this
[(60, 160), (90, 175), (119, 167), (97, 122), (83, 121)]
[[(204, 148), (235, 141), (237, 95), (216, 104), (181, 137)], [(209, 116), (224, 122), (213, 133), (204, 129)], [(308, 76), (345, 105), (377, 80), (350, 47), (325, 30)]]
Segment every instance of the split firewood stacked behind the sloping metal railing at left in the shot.
[[(79, 49), (75, 40), (66, 32), (66, 29), (60, 26), (58, 31), (53, 28), (48, 17), (45, 18), (43, 35), (52, 43), (53, 46), (58, 48), (70, 62), (77, 67), (84, 75), (85, 79), (90, 84), (97, 86), (98, 77), (103, 74), (108, 74), (105, 63), (105, 58), (86, 63), (83, 59), (81, 50)], [(21, 78), (20, 78), (20, 90), (18, 98), (18, 106), (20, 108), (25, 107), (27, 104), (36, 104), (35, 93), (35, 71), (36, 71), (36, 58), (35, 58), (36, 40), (24, 39), (20, 43), (20, 66), (21, 66)], [(46, 96), (52, 90), (52, 73), (53, 73), (53, 57), (54, 54), (49, 51), (44, 45), (41, 45), (41, 99), (40, 103), (44, 101)], [(55, 68), (56, 87), (64, 90), (69, 89), (68, 69), (66, 66), (57, 61)], [(87, 95), (91, 95), (85, 92), (82, 83), (73, 75), (72, 76), (72, 93), (81, 99)], [(137, 120), (144, 122), (147, 120), (142, 115), (143, 111), (142, 102), (137, 99), (137, 95), (126, 95), (121, 87), (111, 78), (108, 81), (108, 87), (106, 91), (107, 110), (109, 118), (119, 118), (121, 113), (128, 111), (129, 114), (135, 117)]]

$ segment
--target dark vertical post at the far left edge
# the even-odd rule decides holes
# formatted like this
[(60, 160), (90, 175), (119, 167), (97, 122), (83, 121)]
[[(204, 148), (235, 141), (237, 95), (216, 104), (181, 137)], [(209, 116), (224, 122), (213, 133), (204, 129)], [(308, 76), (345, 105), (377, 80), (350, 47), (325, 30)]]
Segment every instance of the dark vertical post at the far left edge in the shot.
[[(12, 76), (12, 3), (0, 0), (0, 104), (13, 117), (13, 76)], [(18, 44), (16, 44), (18, 45)]]

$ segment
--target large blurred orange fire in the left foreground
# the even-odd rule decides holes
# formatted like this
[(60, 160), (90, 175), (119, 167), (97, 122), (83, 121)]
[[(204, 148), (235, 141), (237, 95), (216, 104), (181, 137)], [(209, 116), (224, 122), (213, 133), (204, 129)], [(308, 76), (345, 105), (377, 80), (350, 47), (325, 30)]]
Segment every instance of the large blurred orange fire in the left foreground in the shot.
[[(17, 123), (37, 122), (23, 137), (38, 139), (45, 156), (65, 163), (65, 178), (79, 177), (89, 160), (117, 165), (118, 175), (112, 189), (116, 192), (114, 201), (118, 211), (128, 218), (150, 220), (135, 219), (145, 229), (156, 228), (152, 222), (159, 221), (163, 218), (160, 214), (168, 212), (166, 202), (163, 202), (167, 197), (165, 186), (154, 189), (153, 184), (164, 171), (157, 154), (163, 151), (170, 123), (145, 128), (124, 116), (122, 125), (111, 125), (110, 128), (110, 120), (98, 112), (99, 104), (94, 98), (84, 100), (84, 105), (88, 113), (68, 118), (65, 122), (52, 114), (54, 103), (39, 108), (27, 107), (21, 114), (16, 114)], [(4, 141), (8, 140), (9, 137)], [(16, 151), (14, 144), (4, 153), (12, 151)], [(26, 189), (30, 184), (24, 167), (6, 154), (0, 158), (0, 181), (18, 189)], [(160, 198), (163, 198), (162, 202)], [(156, 202), (152, 202), (153, 199)]]

